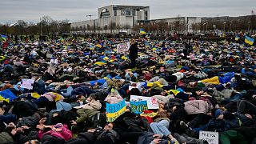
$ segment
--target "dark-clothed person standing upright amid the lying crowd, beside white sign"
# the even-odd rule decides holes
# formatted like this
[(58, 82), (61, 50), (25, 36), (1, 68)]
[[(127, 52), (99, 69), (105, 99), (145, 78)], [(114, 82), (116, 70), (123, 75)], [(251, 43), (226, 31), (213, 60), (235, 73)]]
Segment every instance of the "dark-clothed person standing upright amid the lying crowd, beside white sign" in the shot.
[(136, 58), (138, 58), (138, 43), (132, 39), (131, 40), (131, 45), (130, 45), (130, 49), (129, 49), (129, 58), (130, 58), (130, 65), (131, 65), (131, 68), (134, 68), (135, 67), (135, 60)]

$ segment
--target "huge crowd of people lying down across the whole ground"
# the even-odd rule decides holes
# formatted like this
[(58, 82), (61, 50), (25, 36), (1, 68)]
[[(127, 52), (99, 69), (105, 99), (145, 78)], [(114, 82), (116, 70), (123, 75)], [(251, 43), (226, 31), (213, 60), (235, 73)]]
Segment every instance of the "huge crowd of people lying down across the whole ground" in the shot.
[[(201, 130), (256, 143), (254, 46), (95, 37), (10, 40), (0, 54), (0, 143), (207, 143)], [(134, 113), (131, 95), (158, 108)], [(123, 100), (107, 122), (106, 105)]]

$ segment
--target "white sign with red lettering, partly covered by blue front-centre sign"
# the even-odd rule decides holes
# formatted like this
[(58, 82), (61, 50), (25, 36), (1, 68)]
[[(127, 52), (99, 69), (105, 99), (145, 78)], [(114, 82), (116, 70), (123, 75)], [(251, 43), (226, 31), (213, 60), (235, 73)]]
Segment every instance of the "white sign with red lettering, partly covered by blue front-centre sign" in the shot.
[(146, 101), (148, 109), (159, 109), (157, 98), (130, 95), (130, 101), (135, 101), (135, 102)]

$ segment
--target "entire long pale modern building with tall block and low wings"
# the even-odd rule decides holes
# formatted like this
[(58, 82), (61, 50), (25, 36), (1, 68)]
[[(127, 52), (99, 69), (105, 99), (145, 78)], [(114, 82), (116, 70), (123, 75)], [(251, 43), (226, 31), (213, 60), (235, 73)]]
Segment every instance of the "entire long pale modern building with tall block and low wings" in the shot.
[[(91, 17), (91, 15), (87, 16)], [(206, 31), (215, 29), (231, 31), (234, 24), (238, 24), (236, 22), (238, 19), (241, 19), (241, 22), (245, 22), (245, 18), (249, 20), (248, 25), (250, 25), (250, 16), (215, 18), (178, 16), (177, 18), (150, 19), (149, 6), (110, 5), (98, 8), (97, 19), (90, 18), (87, 21), (73, 22), (70, 24), (70, 28), (71, 32), (76, 34), (133, 33), (138, 32), (140, 28), (143, 28), (146, 32), (154, 33), (170, 33), (174, 31), (191, 33), (198, 30)]]

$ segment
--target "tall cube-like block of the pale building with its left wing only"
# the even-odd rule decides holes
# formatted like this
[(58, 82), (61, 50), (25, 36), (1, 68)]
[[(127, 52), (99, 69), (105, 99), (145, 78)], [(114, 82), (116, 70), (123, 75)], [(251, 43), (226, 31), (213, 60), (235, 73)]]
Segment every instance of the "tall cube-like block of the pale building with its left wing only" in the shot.
[(138, 21), (150, 19), (149, 6), (110, 5), (98, 8), (98, 19), (73, 22), (72, 31), (86, 33), (131, 32)]

